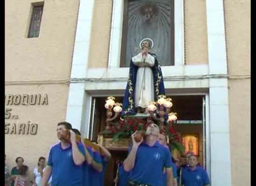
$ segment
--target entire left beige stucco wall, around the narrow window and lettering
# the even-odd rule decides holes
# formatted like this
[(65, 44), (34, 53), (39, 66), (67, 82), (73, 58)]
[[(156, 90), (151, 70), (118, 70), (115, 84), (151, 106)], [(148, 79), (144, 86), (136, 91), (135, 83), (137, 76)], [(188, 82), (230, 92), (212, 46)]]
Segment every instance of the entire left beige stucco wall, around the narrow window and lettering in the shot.
[(47, 157), (50, 146), (58, 141), (56, 124), (66, 118), (79, 7), (79, 0), (45, 0), (39, 37), (27, 38), (33, 2), (38, 0), (5, 0), (5, 94), (48, 95), (48, 105), (5, 106), (19, 116), (5, 123), (38, 124), (36, 135), (5, 134), (9, 171), (15, 158), (22, 156), (30, 175), (38, 158)]

